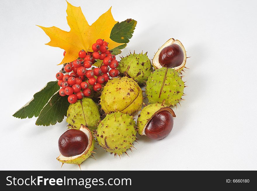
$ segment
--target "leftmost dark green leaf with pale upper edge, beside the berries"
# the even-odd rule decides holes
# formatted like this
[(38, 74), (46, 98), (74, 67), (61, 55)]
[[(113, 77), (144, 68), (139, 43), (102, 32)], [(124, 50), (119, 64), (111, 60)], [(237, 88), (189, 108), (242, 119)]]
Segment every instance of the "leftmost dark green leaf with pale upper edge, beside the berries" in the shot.
[(40, 111), (59, 89), (60, 86), (58, 86), (57, 81), (48, 82), (44, 88), (34, 94), (32, 100), (13, 114), (13, 117), (20, 119), (32, 118), (33, 116), (38, 117)]

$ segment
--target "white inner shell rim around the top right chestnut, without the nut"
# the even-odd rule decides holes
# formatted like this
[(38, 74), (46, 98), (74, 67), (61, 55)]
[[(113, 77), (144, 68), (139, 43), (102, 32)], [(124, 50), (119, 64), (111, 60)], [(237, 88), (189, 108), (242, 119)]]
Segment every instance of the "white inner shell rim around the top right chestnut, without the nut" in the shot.
[(182, 45), (182, 43), (179, 41), (179, 40), (175, 40), (175, 39), (169, 39), (167, 42), (164, 43), (164, 45), (161, 46), (161, 48), (158, 49), (157, 53), (154, 55), (154, 58), (152, 60), (152, 63), (155, 67), (157, 68), (161, 68), (162, 65), (159, 63), (159, 55), (162, 51), (163, 48), (167, 47), (167, 46), (170, 46), (171, 44), (177, 44), (179, 45), (182, 50), (183, 50), (183, 53), (184, 53), (184, 59), (183, 59), (183, 62), (181, 63), (180, 66), (176, 66), (174, 69), (175, 70), (179, 70), (180, 68), (182, 68), (184, 65), (185, 65), (185, 62), (187, 60), (187, 55), (186, 55), (186, 51), (185, 51), (185, 48), (184, 46)]

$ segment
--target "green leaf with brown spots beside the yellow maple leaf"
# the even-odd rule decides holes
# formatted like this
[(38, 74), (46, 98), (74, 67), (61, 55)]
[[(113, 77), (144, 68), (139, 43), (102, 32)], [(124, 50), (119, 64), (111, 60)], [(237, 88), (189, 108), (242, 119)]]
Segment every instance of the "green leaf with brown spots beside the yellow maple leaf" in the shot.
[[(118, 43), (128, 43), (129, 39), (131, 39), (132, 34), (136, 27), (136, 20), (133, 19), (127, 19), (122, 22), (117, 22), (114, 27), (112, 28), (110, 38)], [(121, 53), (121, 49), (125, 48), (127, 45), (123, 44), (116, 48), (113, 48), (112, 54), (119, 54)]]

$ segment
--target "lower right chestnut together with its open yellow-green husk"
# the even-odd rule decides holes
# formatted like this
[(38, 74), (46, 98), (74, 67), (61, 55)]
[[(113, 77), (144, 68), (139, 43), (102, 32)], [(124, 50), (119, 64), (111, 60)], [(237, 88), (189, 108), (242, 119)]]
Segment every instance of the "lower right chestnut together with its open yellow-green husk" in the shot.
[(138, 134), (159, 140), (166, 137), (173, 128), (173, 110), (162, 103), (150, 104), (138, 115)]

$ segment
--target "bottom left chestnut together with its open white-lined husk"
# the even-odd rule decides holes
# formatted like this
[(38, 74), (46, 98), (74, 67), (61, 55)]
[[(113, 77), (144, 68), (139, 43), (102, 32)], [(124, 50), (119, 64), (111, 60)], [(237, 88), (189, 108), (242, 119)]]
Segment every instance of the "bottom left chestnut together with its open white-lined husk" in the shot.
[(79, 129), (69, 129), (58, 141), (60, 156), (56, 159), (62, 164), (80, 164), (92, 155), (95, 139), (92, 132), (81, 124)]

